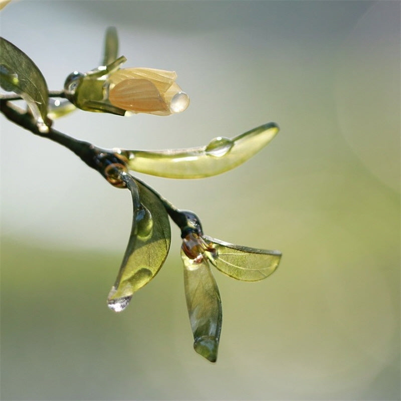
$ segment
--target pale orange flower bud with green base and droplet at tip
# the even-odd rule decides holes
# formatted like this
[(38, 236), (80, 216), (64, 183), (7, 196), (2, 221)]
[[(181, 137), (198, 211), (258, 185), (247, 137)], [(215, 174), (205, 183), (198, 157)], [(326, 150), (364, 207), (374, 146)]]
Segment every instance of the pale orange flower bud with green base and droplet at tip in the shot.
[(121, 56), (86, 74), (71, 73), (64, 84), (65, 96), (82, 110), (118, 115), (128, 111), (168, 116), (188, 107), (189, 97), (175, 83), (174, 71), (120, 69), (125, 61)]

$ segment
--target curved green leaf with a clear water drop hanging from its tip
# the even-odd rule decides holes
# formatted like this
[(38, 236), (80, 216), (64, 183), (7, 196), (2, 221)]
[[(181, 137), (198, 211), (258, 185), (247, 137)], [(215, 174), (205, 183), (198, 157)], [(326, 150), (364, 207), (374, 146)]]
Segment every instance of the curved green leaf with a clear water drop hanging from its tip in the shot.
[(160, 199), (127, 173), (121, 178), (131, 191), (133, 219), (127, 249), (107, 301), (120, 312), (132, 294), (147, 284), (163, 265), (170, 248), (170, 223)]

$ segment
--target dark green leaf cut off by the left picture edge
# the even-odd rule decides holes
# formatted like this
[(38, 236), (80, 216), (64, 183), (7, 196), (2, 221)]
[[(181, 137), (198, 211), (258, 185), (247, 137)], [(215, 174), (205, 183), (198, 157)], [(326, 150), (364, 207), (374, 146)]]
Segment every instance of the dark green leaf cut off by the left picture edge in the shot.
[(18, 47), (0, 38), (0, 85), (6, 91), (13, 91), (27, 102), (41, 131), (45, 125), (48, 110), (48, 88), (39, 68)]

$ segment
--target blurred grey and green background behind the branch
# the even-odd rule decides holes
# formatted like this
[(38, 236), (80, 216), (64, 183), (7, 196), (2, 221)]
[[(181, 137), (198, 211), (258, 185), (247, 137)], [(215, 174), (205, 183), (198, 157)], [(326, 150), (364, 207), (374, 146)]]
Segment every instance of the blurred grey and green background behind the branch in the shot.
[(4, 400), (399, 399), (400, 3), (20, 1), (2, 36), (49, 88), (101, 60), (114, 25), (126, 67), (171, 69), (191, 97), (171, 117), (74, 114), (57, 129), (102, 147), (204, 145), (281, 131), (209, 179), (138, 175), (208, 235), (280, 249), (278, 271), (216, 271), (216, 365), (192, 349), (172, 227), (157, 277), (114, 314), (128, 191), (1, 119)]

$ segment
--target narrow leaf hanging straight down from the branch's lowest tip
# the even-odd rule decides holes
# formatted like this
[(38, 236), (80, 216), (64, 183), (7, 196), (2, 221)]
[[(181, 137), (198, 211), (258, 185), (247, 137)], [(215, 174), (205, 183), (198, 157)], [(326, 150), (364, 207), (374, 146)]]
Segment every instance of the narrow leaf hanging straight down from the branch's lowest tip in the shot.
[(219, 288), (207, 258), (195, 263), (182, 250), (181, 258), (184, 264), (184, 289), (193, 348), (211, 362), (216, 362), (223, 323)]

